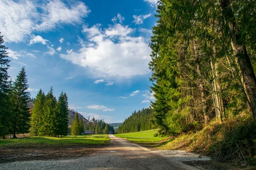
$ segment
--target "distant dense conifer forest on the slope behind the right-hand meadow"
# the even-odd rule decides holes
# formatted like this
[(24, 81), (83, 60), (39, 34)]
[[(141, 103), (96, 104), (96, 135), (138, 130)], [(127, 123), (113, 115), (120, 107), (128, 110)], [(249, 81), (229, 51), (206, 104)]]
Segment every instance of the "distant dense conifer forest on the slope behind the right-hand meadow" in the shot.
[(154, 128), (152, 120), (154, 119), (151, 108), (143, 108), (132, 112), (132, 115), (125, 119), (122, 126), (118, 127), (117, 133), (130, 133), (142, 130), (151, 130)]

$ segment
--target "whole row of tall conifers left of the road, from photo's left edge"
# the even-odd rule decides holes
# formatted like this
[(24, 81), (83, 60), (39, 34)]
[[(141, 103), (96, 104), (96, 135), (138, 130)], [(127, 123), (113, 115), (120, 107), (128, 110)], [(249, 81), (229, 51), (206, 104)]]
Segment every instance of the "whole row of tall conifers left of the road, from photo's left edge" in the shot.
[(28, 133), (32, 136), (67, 135), (67, 95), (61, 92), (58, 101), (53, 89), (47, 95), (40, 89), (32, 113), (29, 113), (30, 93), (26, 71), (23, 67), (16, 79), (8, 75), (9, 57), (7, 47), (3, 45), (0, 35), (0, 136), (6, 134), (16, 138), (17, 133)]

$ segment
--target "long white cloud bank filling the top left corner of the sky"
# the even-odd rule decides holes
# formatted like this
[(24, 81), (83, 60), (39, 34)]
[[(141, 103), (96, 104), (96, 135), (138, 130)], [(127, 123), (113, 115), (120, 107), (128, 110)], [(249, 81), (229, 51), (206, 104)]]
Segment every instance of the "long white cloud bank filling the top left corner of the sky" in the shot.
[(82, 2), (69, 3), (69, 6), (60, 0), (39, 2), (0, 0), (0, 30), (6, 42), (26, 41), (33, 32), (47, 31), (61, 24), (80, 24), (90, 12)]

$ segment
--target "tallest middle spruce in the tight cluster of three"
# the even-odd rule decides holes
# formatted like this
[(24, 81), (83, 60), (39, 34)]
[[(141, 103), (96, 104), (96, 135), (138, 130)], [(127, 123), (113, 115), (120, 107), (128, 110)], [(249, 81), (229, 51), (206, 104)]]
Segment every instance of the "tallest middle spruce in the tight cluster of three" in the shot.
[(51, 87), (48, 94), (45, 96), (44, 102), (44, 114), (42, 116), (43, 125), (40, 128), (41, 135), (48, 135), (54, 133), (55, 130), (55, 113), (57, 112), (57, 99), (53, 95), (53, 89)]

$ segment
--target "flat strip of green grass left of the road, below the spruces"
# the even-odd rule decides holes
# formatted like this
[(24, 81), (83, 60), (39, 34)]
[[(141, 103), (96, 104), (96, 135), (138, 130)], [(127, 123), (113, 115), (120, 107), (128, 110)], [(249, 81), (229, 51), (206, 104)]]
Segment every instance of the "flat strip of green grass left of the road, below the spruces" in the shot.
[(24, 144), (105, 144), (109, 143), (108, 135), (83, 135), (83, 136), (64, 136), (64, 137), (27, 137), (18, 139), (2, 139), (0, 147)]

